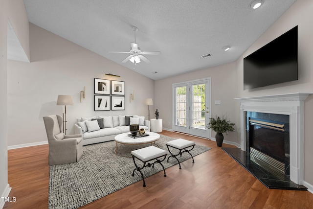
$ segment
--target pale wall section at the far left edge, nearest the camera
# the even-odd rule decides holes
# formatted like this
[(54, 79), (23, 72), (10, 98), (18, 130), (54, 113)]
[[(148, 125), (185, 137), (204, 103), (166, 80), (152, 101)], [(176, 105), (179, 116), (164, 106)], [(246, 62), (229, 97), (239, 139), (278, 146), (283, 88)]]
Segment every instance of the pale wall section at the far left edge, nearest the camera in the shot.
[[(8, 184), (7, 152), (7, 27), (8, 20), (17, 34), (24, 53), (29, 58), (28, 18), (22, 0), (2, 0), (0, 6), (0, 197), (7, 197)], [(0, 208), (5, 202), (0, 200)]]

